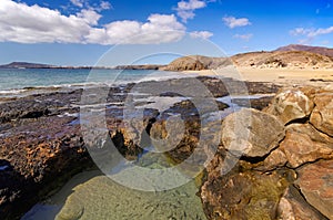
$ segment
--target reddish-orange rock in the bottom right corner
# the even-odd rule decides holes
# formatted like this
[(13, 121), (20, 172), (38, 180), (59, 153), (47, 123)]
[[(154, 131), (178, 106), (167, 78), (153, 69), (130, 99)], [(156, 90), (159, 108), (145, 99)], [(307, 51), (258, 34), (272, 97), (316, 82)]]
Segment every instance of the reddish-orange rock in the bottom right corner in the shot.
[(299, 169), (296, 181), (306, 201), (333, 219), (333, 160), (321, 160)]

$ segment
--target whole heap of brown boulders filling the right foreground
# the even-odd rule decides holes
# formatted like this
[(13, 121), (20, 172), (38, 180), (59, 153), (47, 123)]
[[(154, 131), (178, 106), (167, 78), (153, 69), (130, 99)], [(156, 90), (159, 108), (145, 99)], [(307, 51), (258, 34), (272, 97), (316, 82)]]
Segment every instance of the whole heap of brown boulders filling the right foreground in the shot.
[(201, 188), (209, 219), (332, 219), (332, 87), (291, 88), (228, 116)]

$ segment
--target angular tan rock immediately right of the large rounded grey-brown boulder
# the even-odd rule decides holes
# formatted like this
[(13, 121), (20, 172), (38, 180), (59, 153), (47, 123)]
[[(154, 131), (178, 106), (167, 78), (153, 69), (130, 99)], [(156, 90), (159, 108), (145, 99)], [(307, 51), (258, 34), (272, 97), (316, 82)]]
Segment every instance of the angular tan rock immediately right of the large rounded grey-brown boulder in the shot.
[(286, 156), (289, 166), (296, 168), (305, 163), (333, 158), (333, 138), (310, 124), (294, 124), (287, 127), (280, 150)]

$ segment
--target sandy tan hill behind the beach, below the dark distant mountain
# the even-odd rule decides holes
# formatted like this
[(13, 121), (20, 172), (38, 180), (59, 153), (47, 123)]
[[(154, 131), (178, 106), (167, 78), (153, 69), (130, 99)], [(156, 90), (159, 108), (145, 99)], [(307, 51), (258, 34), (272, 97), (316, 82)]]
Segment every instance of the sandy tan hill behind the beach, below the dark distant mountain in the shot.
[(255, 69), (333, 69), (333, 57), (306, 51), (252, 52), (232, 56), (234, 65)]

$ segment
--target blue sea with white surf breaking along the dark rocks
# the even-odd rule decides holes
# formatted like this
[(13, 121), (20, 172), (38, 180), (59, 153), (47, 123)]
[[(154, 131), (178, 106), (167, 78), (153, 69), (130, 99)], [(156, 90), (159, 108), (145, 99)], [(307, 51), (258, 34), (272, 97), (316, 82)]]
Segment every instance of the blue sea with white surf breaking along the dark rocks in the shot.
[(185, 76), (190, 75), (152, 70), (0, 69), (0, 94), (19, 93), (31, 87), (117, 85)]

